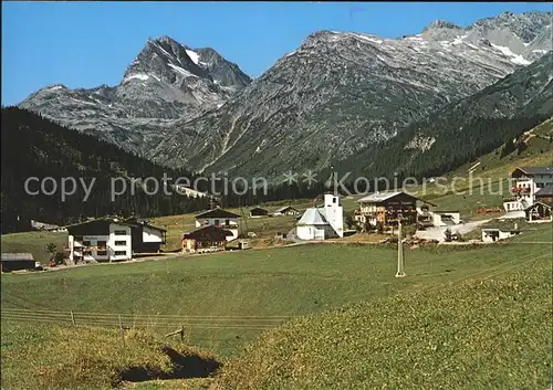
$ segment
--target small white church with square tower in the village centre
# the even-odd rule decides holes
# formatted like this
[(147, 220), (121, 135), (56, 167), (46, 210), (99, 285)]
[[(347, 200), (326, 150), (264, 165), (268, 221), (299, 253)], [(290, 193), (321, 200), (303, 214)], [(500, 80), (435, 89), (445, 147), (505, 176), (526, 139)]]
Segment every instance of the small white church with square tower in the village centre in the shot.
[(344, 236), (344, 211), (340, 197), (324, 194), (322, 208), (305, 210), (296, 223), (295, 234), (300, 240), (326, 240)]

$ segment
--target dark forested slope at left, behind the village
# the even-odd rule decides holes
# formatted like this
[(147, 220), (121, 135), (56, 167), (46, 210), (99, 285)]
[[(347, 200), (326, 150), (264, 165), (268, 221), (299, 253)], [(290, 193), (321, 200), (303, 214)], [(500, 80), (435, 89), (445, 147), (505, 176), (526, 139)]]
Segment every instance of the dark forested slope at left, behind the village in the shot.
[[(94, 136), (61, 127), (49, 119), (17, 107), (2, 108), (1, 126), (1, 213), (2, 233), (27, 231), (30, 220), (55, 224), (66, 224), (85, 217), (135, 213), (140, 217), (190, 212), (207, 207), (206, 200), (191, 200), (174, 193), (146, 196), (140, 187), (134, 194), (131, 190), (111, 200), (111, 178), (161, 179), (168, 177), (191, 177), (185, 170), (175, 171), (156, 166), (152, 161), (124, 151), (117, 146)], [(40, 183), (31, 181), (25, 192), (28, 178), (56, 180), (56, 191), (52, 196), (40, 191)], [(65, 200), (61, 198), (61, 179), (74, 178), (77, 188)], [(81, 180), (88, 187), (95, 182), (86, 201)], [(116, 187), (121, 191), (121, 182)], [(131, 185), (129, 185), (131, 186)], [(129, 188), (129, 187), (127, 187)], [(49, 193), (52, 181), (44, 186)], [(73, 186), (67, 182), (66, 190)], [(152, 190), (152, 188), (150, 188)]]

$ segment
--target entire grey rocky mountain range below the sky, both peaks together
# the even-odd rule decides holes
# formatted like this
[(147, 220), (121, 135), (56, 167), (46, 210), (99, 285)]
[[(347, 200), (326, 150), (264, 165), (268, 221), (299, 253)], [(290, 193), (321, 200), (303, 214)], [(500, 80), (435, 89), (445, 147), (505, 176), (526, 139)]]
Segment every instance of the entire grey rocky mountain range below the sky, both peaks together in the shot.
[(551, 50), (551, 12), (416, 35), (320, 31), (250, 82), (211, 49), (149, 41), (115, 87), (39, 91), (21, 106), (152, 160), (273, 178), (389, 139)]

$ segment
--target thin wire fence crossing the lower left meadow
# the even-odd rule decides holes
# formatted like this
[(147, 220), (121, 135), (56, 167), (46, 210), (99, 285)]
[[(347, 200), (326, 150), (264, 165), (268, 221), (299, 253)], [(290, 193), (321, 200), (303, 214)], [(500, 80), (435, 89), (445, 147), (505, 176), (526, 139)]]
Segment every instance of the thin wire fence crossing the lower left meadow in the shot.
[(2, 319), (60, 325), (104, 327), (186, 327), (188, 329), (267, 330), (290, 319), (290, 316), (182, 316), (42, 309), (2, 308)]

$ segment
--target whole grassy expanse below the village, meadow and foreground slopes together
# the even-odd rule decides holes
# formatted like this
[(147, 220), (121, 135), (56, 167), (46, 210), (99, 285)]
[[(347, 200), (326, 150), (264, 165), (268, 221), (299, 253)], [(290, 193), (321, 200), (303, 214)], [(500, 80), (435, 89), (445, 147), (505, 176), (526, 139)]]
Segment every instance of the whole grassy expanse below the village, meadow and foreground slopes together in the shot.
[[(526, 233), (526, 241), (547, 234), (551, 241), (551, 224)], [(551, 280), (542, 273), (546, 268), (551, 275), (551, 245), (430, 245), (406, 249), (405, 256), (408, 276), (399, 280), (394, 277), (394, 247), (331, 243), (3, 274), (2, 386), (428, 388), (444, 380), (442, 389), (457, 389), (455, 383), (519, 389), (545, 383), (549, 360), (543, 345), (550, 317), (544, 316), (551, 315), (551, 306), (544, 304), (544, 289), (551, 291)], [(518, 275), (518, 270), (541, 275), (540, 280), (513, 276), (507, 285), (493, 282)], [(344, 305), (349, 308), (341, 309)], [(69, 310), (76, 313), (76, 326), (65, 316)], [(122, 323), (132, 330), (125, 331), (123, 349), (116, 319), (106, 330), (86, 326), (102, 325), (108, 314), (126, 315)], [(148, 319), (146, 330), (129, 319), (136, 315)], [(185, 342), (175, 346), (179, 354), (197, 350), (189, 345), (210, 350), (223, 362), (221, 375), (126, 382), (128, 370), (147, 368), (148, 376), (161, 378), (175, 371), (159, 344), (175, 341), (160, 336), (177, 324), (186, 324)], [(484, 349), (478, 349), (480, 345)], [(526, 349), (520, 350), (520, 345)], [(420, 367), (436, 367), (430, 371), (438, 376)], [(366, 375), (369, 371), (373, 375)], [(508, 382), (513, 380), (509, 373), (517, 380)]]

